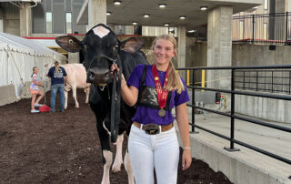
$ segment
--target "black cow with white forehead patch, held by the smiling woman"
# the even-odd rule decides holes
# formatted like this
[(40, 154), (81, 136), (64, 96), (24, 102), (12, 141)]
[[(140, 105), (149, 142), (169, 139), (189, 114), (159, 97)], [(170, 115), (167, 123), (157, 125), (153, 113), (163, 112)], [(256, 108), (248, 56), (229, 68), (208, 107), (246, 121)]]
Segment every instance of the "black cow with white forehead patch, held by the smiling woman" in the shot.
[[(113, 77), (110, 74), (110, 66), (116, 63), (128, 79), (134, 67), (137, 64), (148, 64), (146, 55), (139, 51), (144, 45), (139, 38), (131, 37), (124, 42), (119, 42), (115, 33), (105, 25), (97, 25), (90, 29), (82, 41), (77, 40), (74, 36), (59, 36), (56, 43), (69, 52), (83, 51), (85, 57), (85, 69), (87, 71), (87, 82), (91, 83), (89, 103), (95, 113), (96, 127), (102, 147), (102, 156), (104, 160), (104, 173), (102, 183), (110, 183), (109, 169), (112, 164), (112, 152), (109, 142), (110, 120), (111, 116), (111, 98), (118, 102), (120, 97), (120, 83), (117, 85), (117, 95), (112, 97), (114, 87)], [(119, 89), (119, 93), (118, 93)], [(115, 111), (116, 115), (120, 113), (118, 138), (116, 141), (116, 156), (112, 170), (119, 171), (122, 159), (122, 142), (123, 133), (129, 135), (132, 125), (131, 118), (135, 114), (135, 107), (128, 107), (121, 100), (120, 112)], [(113, 103), (114, 104), (114, 103)], [(118, 104), (118, 103), (117, 103)], [(118, 106), (116, 106), (118, 109)], [(115, 131), (111, 131), (115, 132)], [(128, 174), (128, 182), (135, 183), (131, 169), (128, 153), (125, 153), (125, 170)]]

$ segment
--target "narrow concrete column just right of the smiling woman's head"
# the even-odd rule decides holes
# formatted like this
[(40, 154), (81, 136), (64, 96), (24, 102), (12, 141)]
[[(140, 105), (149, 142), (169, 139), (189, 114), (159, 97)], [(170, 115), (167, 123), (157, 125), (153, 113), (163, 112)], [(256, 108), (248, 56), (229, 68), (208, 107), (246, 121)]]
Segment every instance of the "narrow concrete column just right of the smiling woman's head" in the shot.
[[(177, 67), (186, 67), (186, 26), (178, 26), (178, 60)], [(186, 80), (186, 72), (180, 71), (180, 76)]]

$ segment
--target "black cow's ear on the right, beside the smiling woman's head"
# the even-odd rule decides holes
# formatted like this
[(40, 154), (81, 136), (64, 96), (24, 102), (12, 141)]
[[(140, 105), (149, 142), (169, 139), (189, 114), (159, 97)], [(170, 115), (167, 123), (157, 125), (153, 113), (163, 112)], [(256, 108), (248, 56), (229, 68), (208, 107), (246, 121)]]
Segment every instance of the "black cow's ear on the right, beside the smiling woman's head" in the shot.
[(139, 37), (130, 37), (121, 42), (120, 49), (129, 53), (135, 53), (144, 46), (144, 40)]

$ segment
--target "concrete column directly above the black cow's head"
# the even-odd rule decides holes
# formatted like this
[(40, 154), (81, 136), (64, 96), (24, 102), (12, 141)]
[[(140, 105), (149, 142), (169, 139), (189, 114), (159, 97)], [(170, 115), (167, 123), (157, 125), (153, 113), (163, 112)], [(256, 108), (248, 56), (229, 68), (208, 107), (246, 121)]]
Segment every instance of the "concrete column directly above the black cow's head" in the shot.
[(89, 0), (88, 2), (88, 28), (98, 24), (106, 25), (106, 0)]

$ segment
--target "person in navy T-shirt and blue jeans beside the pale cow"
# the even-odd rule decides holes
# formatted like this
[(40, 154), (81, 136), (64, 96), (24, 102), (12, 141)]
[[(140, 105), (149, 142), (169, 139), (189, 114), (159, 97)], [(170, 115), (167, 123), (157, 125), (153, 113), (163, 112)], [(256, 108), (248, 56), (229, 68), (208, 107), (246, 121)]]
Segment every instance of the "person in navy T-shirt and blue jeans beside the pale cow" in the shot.
[(51, 78), (51, 113), (55, 112), (55, 98), (58, 91), (60, 97), (60, 112), (65, 112), (65, 68), (55, 61), (55, 66), (49, 68), (47, 77)]

